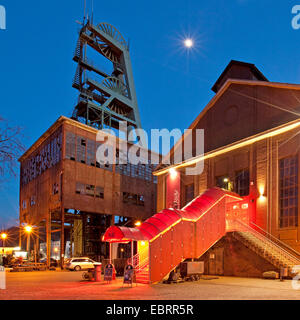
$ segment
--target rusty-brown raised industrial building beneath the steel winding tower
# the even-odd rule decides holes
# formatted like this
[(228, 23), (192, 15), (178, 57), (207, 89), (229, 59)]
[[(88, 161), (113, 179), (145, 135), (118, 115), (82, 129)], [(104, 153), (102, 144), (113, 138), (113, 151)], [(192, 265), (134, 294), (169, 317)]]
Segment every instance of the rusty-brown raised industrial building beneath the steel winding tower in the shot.
[(35, 238), (47, 239), (48, 254), (55, 233), (62, 255), (68, 240), (68, 256), (107, 257), (107, 227), (155, 212), (154, 166), (99, 163), (97, 132), (60, 117), (20, 158), (20, 224), (39, 226)]

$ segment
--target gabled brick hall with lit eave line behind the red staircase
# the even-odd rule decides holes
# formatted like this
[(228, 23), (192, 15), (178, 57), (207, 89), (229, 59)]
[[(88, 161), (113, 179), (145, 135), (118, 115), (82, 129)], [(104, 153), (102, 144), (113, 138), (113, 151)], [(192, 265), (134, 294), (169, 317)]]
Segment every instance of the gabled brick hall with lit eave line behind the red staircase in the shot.
[[(216, 95), (190, 126), (204, 129), (205, 154), (157, 168), (157, 211), (168, 206), (175, 189), (183, 207), (221, 187), (255, 204), (252, 227), (300, 252), (300, 85), (269, 82), (253, 64), (231, 61), (213, 90)], [(186, 175), (197, 159), (204, 161), (203, 172)], [(170, 168), (177, 179), (170, 179)]]

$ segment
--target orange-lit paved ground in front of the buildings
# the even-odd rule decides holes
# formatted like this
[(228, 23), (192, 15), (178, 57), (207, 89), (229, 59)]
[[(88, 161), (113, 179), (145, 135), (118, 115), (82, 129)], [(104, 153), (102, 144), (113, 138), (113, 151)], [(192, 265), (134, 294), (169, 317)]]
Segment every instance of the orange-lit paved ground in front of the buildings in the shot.
[(122, 288), (122, 280), (112, 284), (85, 282), (82, 272), (45, 271), (6, 273), (6, 290), (0, 300), (88, 299), (88, 300), (219, 300), (219, 299), (300, 299), (290, 280), (220, 277), (181, 284), (156, 284)]

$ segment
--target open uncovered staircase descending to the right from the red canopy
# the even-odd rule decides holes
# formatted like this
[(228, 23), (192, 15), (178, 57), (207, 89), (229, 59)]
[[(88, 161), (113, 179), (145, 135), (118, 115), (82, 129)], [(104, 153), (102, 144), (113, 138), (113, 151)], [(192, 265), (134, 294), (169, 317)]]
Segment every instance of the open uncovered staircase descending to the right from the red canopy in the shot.
[(239, 225), (236, 228), (238, 231), (234, 231), (232, 234), (237, 240), (269, 261), (274, 267), (287, 268), (288, 275), (292, 276), (293, 268), (300, 265), (299, 253), (274, 236), (267, 234), (258, 226), (251, 227), (238, 220), (236, 220), (236, 224)]

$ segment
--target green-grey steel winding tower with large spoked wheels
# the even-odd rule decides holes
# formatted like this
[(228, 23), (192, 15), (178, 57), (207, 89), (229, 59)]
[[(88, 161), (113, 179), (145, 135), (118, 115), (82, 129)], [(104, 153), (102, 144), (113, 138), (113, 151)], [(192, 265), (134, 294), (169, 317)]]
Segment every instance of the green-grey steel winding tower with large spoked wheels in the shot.
[[(98, 55), (104, 57), (110, 71), (92, 62), (89, 52), (97, 61)], [(141, 128), (129, 46), (122, 34), (111, 24), (87, 21), (79, 31), (73, 60), (73, 87), (79, 97), (72, 118), (99, 130), (119, 128), (120, 121)]]

